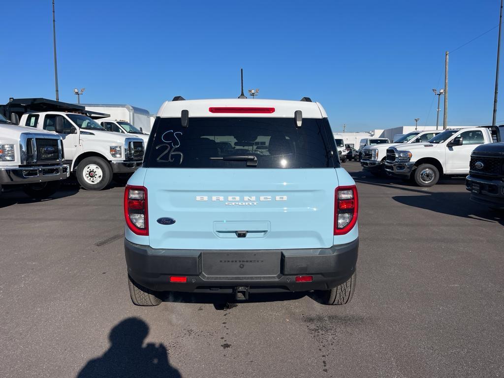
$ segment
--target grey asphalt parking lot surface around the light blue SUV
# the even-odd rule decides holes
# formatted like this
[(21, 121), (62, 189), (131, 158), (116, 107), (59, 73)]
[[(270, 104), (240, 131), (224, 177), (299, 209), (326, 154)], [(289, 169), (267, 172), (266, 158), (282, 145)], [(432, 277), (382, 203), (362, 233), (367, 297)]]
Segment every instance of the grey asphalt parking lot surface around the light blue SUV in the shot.
[(7, 193), (0, 376), (502, 376), (504, 216), (469, 202), (460, 179), (419, 188), (343, 166), (358, 185), (360, 249), (357, 291), (340, 307), (301, 294), (134, 306), (122, 187)]

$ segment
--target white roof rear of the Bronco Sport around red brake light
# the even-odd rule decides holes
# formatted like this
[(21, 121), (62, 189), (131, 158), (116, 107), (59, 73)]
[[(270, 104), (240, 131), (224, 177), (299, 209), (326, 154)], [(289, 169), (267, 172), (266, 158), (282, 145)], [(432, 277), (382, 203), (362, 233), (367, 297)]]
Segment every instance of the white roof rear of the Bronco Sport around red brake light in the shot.
[[(239, 112), (223, 110), (210, 111), (210, 108), (269, 108), (268, 112)], [(182, 110), (188, 110), (190, 117), (294, 117), (296, 110), (301, 110), (304, 118), (326, 118), (327, 114), (318, 102), (287, 101), (267, 99), (207, 99), (165, 101), (157, 113), (158, 117), (180, 117)]]

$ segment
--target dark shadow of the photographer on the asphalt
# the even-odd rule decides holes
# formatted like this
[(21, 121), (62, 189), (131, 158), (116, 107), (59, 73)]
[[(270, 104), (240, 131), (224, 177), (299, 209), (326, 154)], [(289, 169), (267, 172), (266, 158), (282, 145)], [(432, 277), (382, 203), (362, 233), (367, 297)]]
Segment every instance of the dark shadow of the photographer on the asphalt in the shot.
[(143, 320), (123, 320), (110, 331), (110, 348), (88, 361), (77, 378), (181, 378), (168, 362), (168, 351), (163, 344), (144, 345), (148, 334), (149, 326)]

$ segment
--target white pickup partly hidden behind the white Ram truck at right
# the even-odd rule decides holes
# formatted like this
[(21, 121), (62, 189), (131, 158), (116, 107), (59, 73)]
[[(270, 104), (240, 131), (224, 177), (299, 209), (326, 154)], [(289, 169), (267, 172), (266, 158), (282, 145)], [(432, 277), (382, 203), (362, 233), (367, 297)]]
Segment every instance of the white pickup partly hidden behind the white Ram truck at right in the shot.
[(414, 131), (403, 135), (394, 143), (382, 143), (362, 148), (362, 158), (360, 165), (362, 169), (370, 172), (375, 176), (381, 176), (385, 173), (385, 160), (387, 158), (387, 149), (395, 146), (396, 144), (411, 144), (411, 143), (425, 143), (429, 139), (435, 137), (440, 131)]

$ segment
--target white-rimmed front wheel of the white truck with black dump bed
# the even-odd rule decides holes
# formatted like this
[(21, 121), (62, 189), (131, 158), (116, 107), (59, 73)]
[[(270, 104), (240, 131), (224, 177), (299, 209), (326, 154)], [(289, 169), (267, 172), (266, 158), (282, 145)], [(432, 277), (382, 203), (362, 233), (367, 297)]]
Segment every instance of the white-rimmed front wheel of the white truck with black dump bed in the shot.
[(77, 167), (77, 181), (88, 191), (101, 191), (112, 181), (110, 164), (98, 156), (83, 159)]

